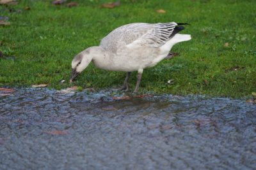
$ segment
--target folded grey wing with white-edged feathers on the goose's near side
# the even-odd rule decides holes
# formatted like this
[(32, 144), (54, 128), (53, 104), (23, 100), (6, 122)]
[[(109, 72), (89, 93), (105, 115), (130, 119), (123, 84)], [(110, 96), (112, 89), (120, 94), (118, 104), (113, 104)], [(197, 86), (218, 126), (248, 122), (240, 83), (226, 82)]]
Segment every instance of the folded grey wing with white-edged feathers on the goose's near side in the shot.
[(174, 34), (175, 22), (146, 24), (134, 23), (118, 27), (102, 39), (100, 46), (116, 52), (122, 46), (152, 46), (159, 47), (164, 45)]

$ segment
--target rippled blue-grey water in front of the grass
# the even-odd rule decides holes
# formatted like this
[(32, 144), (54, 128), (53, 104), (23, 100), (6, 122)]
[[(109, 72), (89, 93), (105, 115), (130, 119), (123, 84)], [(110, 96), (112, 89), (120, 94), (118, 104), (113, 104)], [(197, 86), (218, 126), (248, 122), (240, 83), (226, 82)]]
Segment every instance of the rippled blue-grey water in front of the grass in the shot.
[(0, 97), (0, 169), (255, 169), (256, 104), (16, 89)]

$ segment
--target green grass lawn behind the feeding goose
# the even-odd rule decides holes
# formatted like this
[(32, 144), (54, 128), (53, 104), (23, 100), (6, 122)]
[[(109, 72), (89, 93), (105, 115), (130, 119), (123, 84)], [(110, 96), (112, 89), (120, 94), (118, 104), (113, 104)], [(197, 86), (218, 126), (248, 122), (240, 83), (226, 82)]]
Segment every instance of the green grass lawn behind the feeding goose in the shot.
[[(236, 98), (256, 92), (255, 1), (121, 1), (113, 9), (100, 8), (108, 1), (76, 2), (79, 5), (74, 8), (54, 6), (51, 1), (0, 6), (1, 16), (11, 22), (0, 27), (0, 50), (15, 56), (15, 60), (0, 59), (0, 87), (38, 83), (54, 89), (118, 87), (125, 73), (104, 71), (93, 64), (77, 81), (68, 83), (74, 55), (99, 45), (100, 39), (120, 25), (175, 21), (191, 24), (182, 32), (193, 39), (172, 48), (179, 57), (145, 69), (140, 92)], [(31, 10), (23, 10), (25, 6)], [(159, 9), (166, 13), (156, 13)], [(61, 80), (66, 81), (61, 84)], [(132, 73), (131, 89), (135, 83), (136, 73)]]

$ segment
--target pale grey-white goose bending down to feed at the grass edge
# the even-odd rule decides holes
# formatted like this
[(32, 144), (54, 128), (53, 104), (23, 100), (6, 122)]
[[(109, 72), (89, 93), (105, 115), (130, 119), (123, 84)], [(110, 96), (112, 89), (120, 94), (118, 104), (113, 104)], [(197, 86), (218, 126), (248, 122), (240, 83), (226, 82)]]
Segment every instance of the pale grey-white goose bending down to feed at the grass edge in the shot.
[(184, 29), (180, 25), (186, 24), (134, 23), (116, 28), (102, 39), (99, 46), (87, 48), (74, 57), (70, 82), (92, 61), (101, 69), (127, 72), (120, 90), (128, 90), (131, 71), (138, 71), (134, 89), (138, 92), (143, 69), (156, 66), (176, 43), (191, 39), (189, 34), (178, 34)]

